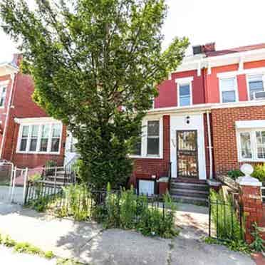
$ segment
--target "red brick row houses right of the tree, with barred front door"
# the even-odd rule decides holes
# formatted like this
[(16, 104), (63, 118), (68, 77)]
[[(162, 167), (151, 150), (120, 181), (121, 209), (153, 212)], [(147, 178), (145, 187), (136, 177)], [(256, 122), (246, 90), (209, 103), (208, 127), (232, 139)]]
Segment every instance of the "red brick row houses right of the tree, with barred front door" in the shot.
[(222, 51), (214, 43), (194, 46), (159, 85), (142, 121), (132, 182), (153, 193), (155, 180), (171, 170), (172, 192), (189, 197), (207, 179), (265, 162), (264, 80), (265, 43)]

